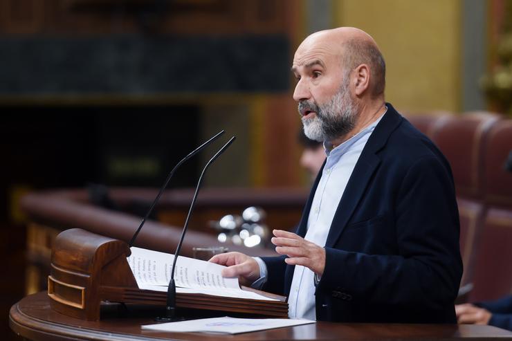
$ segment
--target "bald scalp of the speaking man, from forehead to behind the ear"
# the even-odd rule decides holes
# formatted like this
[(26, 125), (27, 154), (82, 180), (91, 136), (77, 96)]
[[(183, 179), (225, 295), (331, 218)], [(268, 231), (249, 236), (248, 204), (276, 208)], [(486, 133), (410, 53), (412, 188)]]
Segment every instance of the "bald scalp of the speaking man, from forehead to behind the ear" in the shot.
[(354, 27), (340, 27), (322, 30), (309, 35), (300, 44), (301, 48), (328, 44), (333, 53), (340, 56), (346, 71), (352, 71), (360, 64), (367, 64), (372, 74), (369, 91), (373, 98), (383, 95), (386, 66), (384, 57), (372, 36)]

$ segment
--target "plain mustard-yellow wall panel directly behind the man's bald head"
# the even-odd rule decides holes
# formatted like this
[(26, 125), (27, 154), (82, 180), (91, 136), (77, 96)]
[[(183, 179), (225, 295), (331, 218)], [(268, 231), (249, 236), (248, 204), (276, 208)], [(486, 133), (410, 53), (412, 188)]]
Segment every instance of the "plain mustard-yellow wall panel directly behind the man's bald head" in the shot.
[(460, 0), (335, 0), (334, 22), (376, 39), (386, 100), (408, 111), (460, 109)]

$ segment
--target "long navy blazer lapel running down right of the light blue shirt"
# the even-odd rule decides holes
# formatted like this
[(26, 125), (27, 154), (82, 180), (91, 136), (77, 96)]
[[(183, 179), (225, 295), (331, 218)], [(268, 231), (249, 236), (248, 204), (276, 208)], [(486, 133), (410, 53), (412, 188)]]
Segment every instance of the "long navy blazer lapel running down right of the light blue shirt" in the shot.
[[(349, 178), (345, 192), (341, 197), (336, 213), (334, 214), (329, 234), (325, 246), (332, 248), (338, 241), (347, 223), (356, 210), (360, 199), (366, 192), (372, 175), (381, 163), (381, 159), (376, 155), (377, 151), (382, 149), (390, 137), (390, 134), (399, 125), (402, 116), (396, 112), (391, 104), (386, 103), (387, 113), (385, 113), (381, 122), (375, 127), (372, 136), (366, 142), (363, 152), (359, 156), (359, 160), (354, 167), (354, 171)], [(311, 203), (310, 203), (311, 207)], [(309, 210), (308, 210), (309, 212)], [(304, 219), (304, 217), (302, 218)]]

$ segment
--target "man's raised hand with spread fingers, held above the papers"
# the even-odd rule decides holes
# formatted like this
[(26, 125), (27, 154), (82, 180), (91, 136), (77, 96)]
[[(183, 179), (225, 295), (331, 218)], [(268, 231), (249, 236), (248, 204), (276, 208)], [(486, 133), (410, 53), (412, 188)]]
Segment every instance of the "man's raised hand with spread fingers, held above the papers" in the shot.
[(272, 243), (277, 246), (275, 252), (287, 255), (286, 264), (302, 265), (321, 276), (325, 268), (325, 249), (311, 243), (297, 234), (283, 230), (273, 230)]

